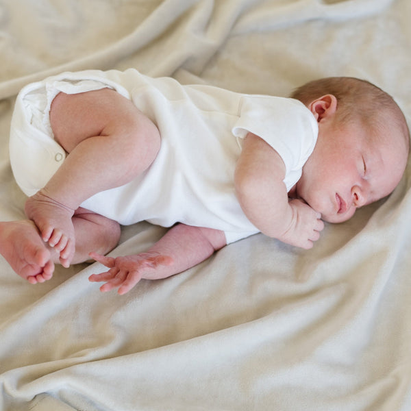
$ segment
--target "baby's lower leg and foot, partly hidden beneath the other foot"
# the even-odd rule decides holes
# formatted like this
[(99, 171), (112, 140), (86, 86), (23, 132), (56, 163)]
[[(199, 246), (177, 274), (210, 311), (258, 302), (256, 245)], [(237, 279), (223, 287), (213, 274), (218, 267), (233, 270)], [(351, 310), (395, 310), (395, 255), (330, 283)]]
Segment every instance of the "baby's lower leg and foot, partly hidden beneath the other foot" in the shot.
[[(77, 238), (73, 263), (89, 260), (90, 251), (108, 253), (119, 241), (120, 226), (116, 221), (84, 208), (75, 211), (73, 227)], [(58, 251), (42, 241), (30, 220), (0, 223), (0, 253), (18, 275), (32, 284), (50, 279), (55, 263), (67, 265)]]

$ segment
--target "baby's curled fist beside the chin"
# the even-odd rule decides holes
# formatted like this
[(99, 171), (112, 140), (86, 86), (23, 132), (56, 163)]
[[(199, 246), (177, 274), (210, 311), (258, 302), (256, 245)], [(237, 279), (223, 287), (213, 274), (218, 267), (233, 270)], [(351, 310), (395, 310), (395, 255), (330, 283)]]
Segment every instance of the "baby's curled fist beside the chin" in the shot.
[(299, 199), (289, 202), (292, 208), (292, 221), (286, 232), (278, 239), (296, 247), (310, 249), (320, 238), (324, 228), (321, 214)]

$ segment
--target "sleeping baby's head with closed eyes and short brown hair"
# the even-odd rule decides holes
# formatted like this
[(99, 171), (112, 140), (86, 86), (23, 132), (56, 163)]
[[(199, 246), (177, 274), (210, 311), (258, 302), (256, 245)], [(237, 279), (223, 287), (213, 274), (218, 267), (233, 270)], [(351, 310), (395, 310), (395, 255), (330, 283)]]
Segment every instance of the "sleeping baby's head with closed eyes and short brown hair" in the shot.
[(329, 77), (301, 86), (291, 97), (319, 125), (295, 186), (297, 197), (325, 221), (340, 223), (394, 190), (406, 169), (410, 133), (390, 95), (360, 79)]

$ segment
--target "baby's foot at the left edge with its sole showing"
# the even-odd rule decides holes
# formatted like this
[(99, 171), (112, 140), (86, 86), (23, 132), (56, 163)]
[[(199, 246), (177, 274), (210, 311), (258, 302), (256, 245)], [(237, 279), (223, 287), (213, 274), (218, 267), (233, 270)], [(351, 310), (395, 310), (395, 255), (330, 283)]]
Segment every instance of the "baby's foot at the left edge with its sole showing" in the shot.
[(53, 275), (50, 251), (32, 221), (0, 223), (0, 253), (12, 269), (31, 284), (45, 282)]

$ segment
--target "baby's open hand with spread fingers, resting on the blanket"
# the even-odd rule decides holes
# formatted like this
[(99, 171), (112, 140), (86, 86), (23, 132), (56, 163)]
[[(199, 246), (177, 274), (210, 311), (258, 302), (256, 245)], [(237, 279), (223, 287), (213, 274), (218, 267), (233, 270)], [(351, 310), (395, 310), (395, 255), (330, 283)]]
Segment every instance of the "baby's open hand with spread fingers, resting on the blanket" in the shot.
[(105, 273), (92, 274), (88, 280), (90, 282), (105, 282), (100, 287), (103, 292), (119, 287), (120, 295), (131, 290), (147, 273), (152, 273), (159, 266), (173, 264), (173, 258), (158, 253), (141, 253), (136, 256), (113, 258), (92, 252), (89, 256), (110, 270), (105, 271)]

